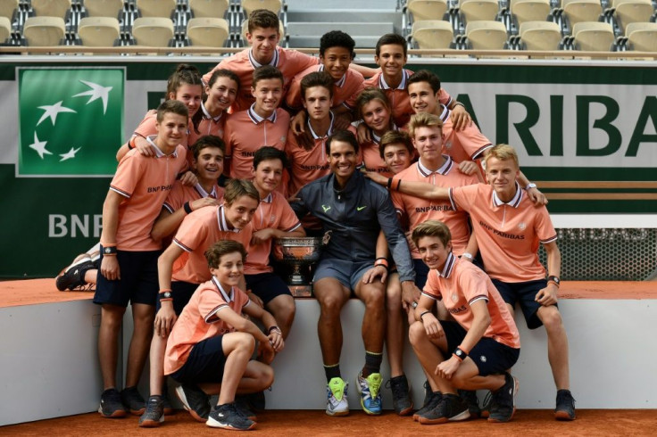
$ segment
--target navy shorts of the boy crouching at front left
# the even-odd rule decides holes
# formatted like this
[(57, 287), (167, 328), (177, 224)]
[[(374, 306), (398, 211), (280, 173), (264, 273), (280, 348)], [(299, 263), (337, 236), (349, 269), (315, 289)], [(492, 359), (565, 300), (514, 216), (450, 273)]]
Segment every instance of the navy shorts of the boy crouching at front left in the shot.
[(170, 376), (179, 383), (221, 383), (227, 358), (222, 339), (223, 335), (217, 335), (196, 343), (185, 364)]

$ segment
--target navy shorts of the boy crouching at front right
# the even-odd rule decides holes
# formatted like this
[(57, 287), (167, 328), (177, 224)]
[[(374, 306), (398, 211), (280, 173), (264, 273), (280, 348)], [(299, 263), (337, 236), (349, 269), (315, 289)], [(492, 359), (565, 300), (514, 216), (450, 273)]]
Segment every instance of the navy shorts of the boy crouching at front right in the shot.
[[(445, 338), (447, 339), (447, 350), (445, 350), (445, 359), (452, 356), (452, 351), (455, 350), (465, 338), (468, 332), (459, 325), (457, 322), (440, 321), (445, 331)], [(470, 350), (468, 354), (470, 359), (474, 361), (479, 369), (479, 375), (495, 375), (506, 372), (507, 369), (513, 367), (520, 357), (520, 349), (511, 348), (501, 342), (495, 342), (492, 338), (481, 337), (475, 347)]]

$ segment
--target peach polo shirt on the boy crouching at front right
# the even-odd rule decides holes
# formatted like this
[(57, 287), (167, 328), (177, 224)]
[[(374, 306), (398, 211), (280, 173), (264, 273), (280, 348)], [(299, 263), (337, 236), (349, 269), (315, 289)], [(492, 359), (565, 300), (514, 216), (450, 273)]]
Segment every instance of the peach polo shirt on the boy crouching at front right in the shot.
[(484, 336), (510, 348), (520, 348), (518, 327), (502, 296), (487, 274), (470, 261), (460, 260), (450, 253), (442, 271), (429, 271), (422, 293), (442, 300), (447, 311), (466, 331), (470, 331), (474, 319), (470, 305), (486, 301), (490, 325)]

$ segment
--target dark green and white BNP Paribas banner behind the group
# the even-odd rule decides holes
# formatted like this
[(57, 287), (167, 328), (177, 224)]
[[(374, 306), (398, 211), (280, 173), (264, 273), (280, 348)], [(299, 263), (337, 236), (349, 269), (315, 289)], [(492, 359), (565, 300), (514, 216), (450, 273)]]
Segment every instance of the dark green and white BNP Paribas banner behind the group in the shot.
[[(115, 153), (179, 61), (0, 58), (0, 277), (55, 276), (97, 243)], [(184, 61), (204, 73), (219, 60)], [(514, 145), (568, 227), (634, 227), (632, 218), (657, 214), (652, 63), (427, 59), (408, 68), (436, 72), (491, 142)], [(595, 220), (603, 215), (623, 219)]]

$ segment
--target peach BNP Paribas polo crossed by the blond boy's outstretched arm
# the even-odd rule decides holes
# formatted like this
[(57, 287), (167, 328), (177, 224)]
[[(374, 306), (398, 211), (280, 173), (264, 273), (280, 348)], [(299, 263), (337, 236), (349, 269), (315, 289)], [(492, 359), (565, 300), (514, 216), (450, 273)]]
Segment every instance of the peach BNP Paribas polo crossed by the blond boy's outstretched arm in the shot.
[[(477, 184), (478, 179), (474, 176), (464, 175), (456, 167), (456, 163), (449, 156), (445, 156), (445, 163), (440, 169), (430, 171), (422, 161), (412, 164), (408, 169), (404, 169), (395, 176), (395, 179), (417, 182), (425, 182), (433, 186), (443, 186), (445, 188), (451, 186), (469, 186)], [(435, 219), (440, 220), (449, 227), (452, 233), (452, 246), (453, 251), (457, 255), (461, 255), (470, 241), (470, 225), (468, 223), (468, 213), (463, 210), (455, 210), (452, 203), (449, 201), (432, 201), (428, 199), (421, 199), (420, 197), (413, 197), (409, 194), (399, 193), (394, 191), (391, 193), (393, 204), (397, 213), (402, 218), (407, 218), (409, 229), (412, 230), (420, 223)], [(420, 260), (420, 252), (417, 250), (411, 251), (413, 259)]]

